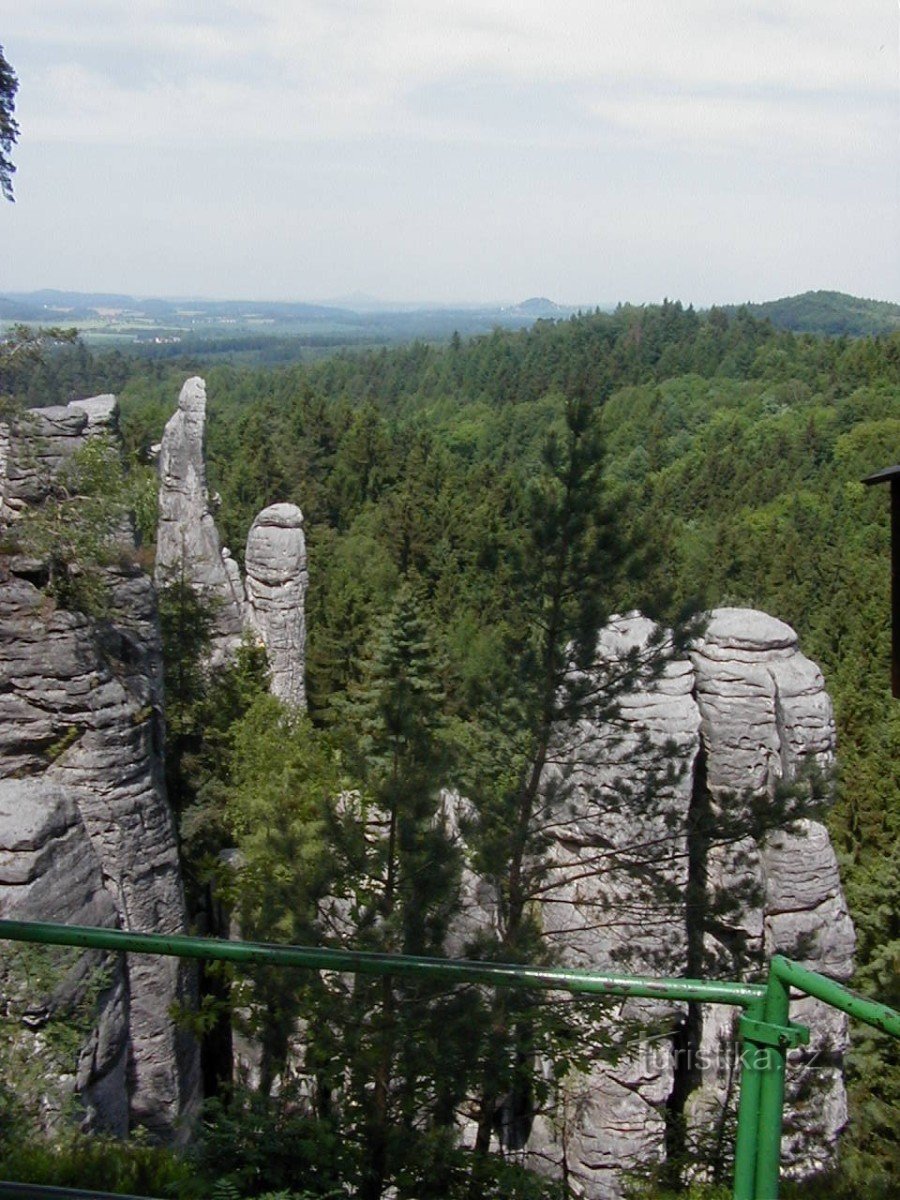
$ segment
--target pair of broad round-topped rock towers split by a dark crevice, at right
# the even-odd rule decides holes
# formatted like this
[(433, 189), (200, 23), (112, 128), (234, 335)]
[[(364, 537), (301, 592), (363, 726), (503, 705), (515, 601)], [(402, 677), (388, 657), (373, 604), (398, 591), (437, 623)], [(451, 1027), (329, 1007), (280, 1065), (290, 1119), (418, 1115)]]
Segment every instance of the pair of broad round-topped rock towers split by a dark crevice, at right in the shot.
[[(643, 618), (613, 622), (598, 674), (650, 632)], [(847, 979), (853, 929), (827, 832), (809, 818), (778, 827), (782, 785), (808, 767), (827, 770), (833, 755), (824, 683), (793, 630), (760, 612), (713, 612), (688, 658), (661, 673), (648, 665), (612, 727), (560, 731), (559, 779), (548, 784), (564, 803), (541, 900), (560, 961), (746, 978), (784, 953)], [(761, 803), (772, 829), (761, 827)], [(803, 1174), (829, 1162), (846, 1121), (846, 1021), (809, 1000), (792, 1016), (812, 1027), (788, 1069), (786, 1147)], [(616, 1064), (569, 1076), (534, 1126), (533, 1165), (564, 1169), (576, 1195), (618, 1196), (623, 1165), (665, 1158), (674, 1118), (698, 1157), (702, 1132), (737, 1100), (732, 1010), (629, 1001), (610, 1032), (629, 1019), (653, 1031), (649, 1040), (632, 1036)]]

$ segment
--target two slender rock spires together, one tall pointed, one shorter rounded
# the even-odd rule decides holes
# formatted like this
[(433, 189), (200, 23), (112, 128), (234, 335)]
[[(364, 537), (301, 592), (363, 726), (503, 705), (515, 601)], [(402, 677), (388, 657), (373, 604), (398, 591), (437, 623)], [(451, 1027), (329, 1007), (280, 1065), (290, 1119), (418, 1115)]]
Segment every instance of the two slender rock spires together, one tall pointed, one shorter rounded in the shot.
[(226, 661), (244, 631), (266, 650), (271, 691), (306, 707), (307, 586), (304, 515), (295, 504), (272, 504), (247, 535), (246, 583), (223, 547), (210, 505), (204, 458), (206, 385), (188, 379), (181, 389), (160, 448), (160, 526), (156, 581), (184, 581), (214, 610), (212, 665)]

